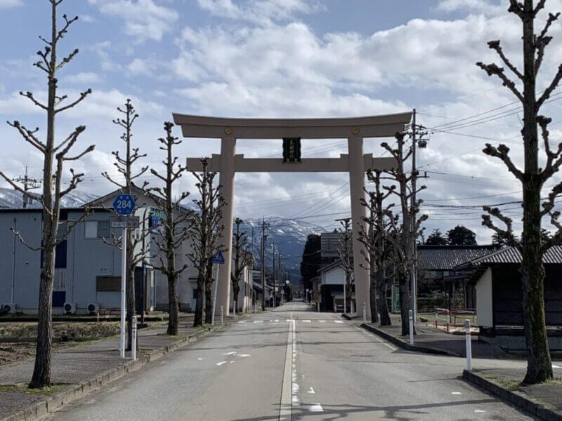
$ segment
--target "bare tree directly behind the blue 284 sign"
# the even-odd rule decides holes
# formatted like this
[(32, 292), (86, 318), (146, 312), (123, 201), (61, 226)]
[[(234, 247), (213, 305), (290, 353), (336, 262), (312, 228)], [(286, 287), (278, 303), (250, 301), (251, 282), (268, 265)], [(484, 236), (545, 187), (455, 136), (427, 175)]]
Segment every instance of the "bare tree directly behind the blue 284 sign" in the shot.
[[(131, 100), (127, 99), (125, 102), (124, 109), (117, 107), (117, 111), (124, 115), (124, 117), (119, 117), (113, 120), (113, 123), (117, 126), (121, 126), (124, 129), (121, 139), (125, 142), (125, 156), (119, 154), (119, 151), (112, 152), (115, 156), (115, 167), (117, 171), (122, 174), (124, 181), (115, 180), (112, 176), (104, 171), (102, 173), (103, 177), (112, 182), (114, 185), (119, 187), (122, 193), (131, 194), (135, 200), (138, 200), (140, 196), (146, 194), (146, 186), (148, 182), (143, 182), (143, 185), (136, 186), (134, 180), (138, 179), (148, 171), (148, 166), (141, 167), (139, 171), (133, 173), (133, 164), (138, 161), (138, 159), (144, 158), (146, 154), (139, 154), (138, 147), (131, 147), (131, 138), (133, 137), (132, 128), (133, 123), (138, 118), (138, 114), (135, 112)], [(141, 191), (141, 194), (138, 192)], [(127, 323), (127, 345), (126, 349), (131, 350), (131, 341), (133, 335), (133, 315), (136, 314), (135, 305), (135, 268), (143, 261), (146, 255), (146, 250), (143, 249), (141, 244), (143, 243), (143, 238), (145, 233), (143, 232), (141, 236), (134, 236), (133, 232), (128, 229), (126, 235), (126, 262), (127, 262), (127, 279), (126, 279), (126, 323)], [(104, 239), (106, 243), (112, 244), (117, 248), (122, 248), (123, 239), (113, 235), (110, 241)], [(138, 250), (138, 251), (136, 251)], [(137, 344), (135, 344), (137, 346)]]

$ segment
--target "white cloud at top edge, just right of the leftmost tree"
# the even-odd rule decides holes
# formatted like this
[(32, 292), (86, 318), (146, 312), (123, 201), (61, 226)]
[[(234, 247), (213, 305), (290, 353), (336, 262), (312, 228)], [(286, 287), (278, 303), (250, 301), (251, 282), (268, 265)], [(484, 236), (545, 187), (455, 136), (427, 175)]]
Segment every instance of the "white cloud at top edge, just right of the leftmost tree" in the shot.
[(178, 20), (174, 9), (158, 6), (154, 0), (88, 0), (101, 13), (119, 16), (125, 22), (125, 32), (138, 42), (160, 41)]

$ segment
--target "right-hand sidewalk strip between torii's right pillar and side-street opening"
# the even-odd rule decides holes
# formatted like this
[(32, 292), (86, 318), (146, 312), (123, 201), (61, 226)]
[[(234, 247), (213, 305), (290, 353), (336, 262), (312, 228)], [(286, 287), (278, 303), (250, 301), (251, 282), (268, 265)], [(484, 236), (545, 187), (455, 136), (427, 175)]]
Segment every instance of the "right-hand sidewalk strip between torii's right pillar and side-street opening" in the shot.
[[(392, 326), (379, 326), (379, 323), (367, 323), (367, 326), (373, 333), (384, 336), (386, 339), (393, 339), (393, 342), (400, 347), (430, 354), (466, 356), (466, 340), (464, 335), (452, 335), (443, 332), (443, 330), (426, 326), (426, 323), (416, 323), (414, 347), (411, 347), (409, 336), (401, 335), (400, 315), (391, 314), (391, 321)], [(396, 340), (400, 342), (396, 342)], [(471, 340), (472, 356), (476, 358), (501, 358), (506, 355), (500, 347), (485, 342), (478, 342), (478, 336), (476, 335), (472, 335)], [(416, 347), (419, 349), (416, 349)]]

